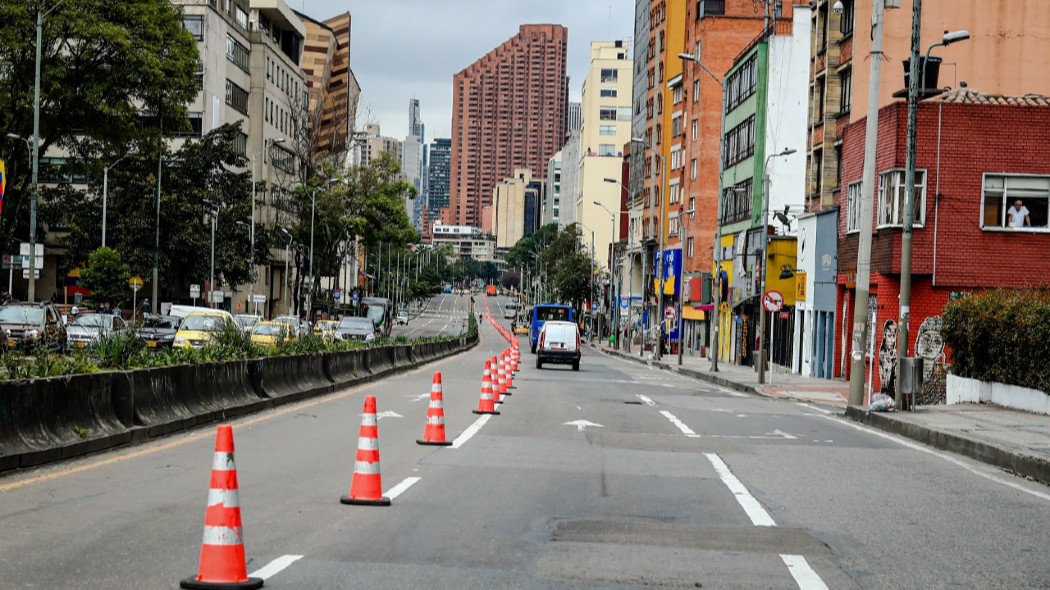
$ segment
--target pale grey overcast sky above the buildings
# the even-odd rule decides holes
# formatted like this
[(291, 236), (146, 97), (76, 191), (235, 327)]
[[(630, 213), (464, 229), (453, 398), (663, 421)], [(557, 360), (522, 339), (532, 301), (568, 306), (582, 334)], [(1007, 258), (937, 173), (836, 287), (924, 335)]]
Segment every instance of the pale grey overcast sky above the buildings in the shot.
[(408, 133), (417, 98), (426, 143), (448, 138), (453, 76), (518, 34), (521, 24), (569, 29), (569, 100), (579, 101), (591, 41), (634, 35), (633, 0), (286, 0), (318, 20), (351, 14), (350, 62), (361, 85), (358, 124)]

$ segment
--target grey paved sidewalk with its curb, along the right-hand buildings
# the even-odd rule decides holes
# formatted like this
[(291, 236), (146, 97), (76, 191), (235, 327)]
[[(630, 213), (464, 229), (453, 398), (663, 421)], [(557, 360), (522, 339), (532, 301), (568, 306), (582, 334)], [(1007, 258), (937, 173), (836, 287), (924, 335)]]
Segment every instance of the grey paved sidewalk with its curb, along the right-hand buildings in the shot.
[(700, 356), (685, 354), (679, 366), (677, 355), (665, 355), (655, 361), (649, 359), (648, 352), (644, 357), (638, 356), (637, 346), (627, 354), (610, 349), (605, 342), (589, 345), (606, 355), (676, 371), (737, 392), (836, 406), (846, 418), (874, 428), (1050, 483), (1050, 416), (990, 404), (924, 405), (915, 412), (868, 412), (866, 406), (847, 405), (849, 383), (838, 379), (803, 377), (774, 366), (772, 372), (766, 372), (769, 383), (759, 385), (758, 373), (752, 366), (719, 362), (715, 373), (711, 371), (711, 361)]

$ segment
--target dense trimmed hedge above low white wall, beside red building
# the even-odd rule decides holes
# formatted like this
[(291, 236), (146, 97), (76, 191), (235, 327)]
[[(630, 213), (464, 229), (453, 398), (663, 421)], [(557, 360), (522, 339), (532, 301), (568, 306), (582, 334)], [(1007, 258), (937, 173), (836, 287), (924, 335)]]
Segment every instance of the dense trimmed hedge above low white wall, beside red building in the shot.
[(968, 295), (942, 315), (953, 374), (1050, 394), (1050, 290)]

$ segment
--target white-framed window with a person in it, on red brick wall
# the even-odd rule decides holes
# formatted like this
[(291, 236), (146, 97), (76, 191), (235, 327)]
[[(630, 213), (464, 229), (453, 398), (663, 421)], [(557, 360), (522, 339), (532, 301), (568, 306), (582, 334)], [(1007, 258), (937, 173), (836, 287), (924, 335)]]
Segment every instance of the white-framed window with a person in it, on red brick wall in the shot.
[[(1021, 204), (1020, 209), (1017, 203)], [(1022, 230), (1045, 228), (1048, 208), (1050, 208), (1050, 176), (985, 175), (981, 227), (1008, 227)], [(1016, 217), (1010, 215), (1015, 211), (1020, 211), (1021, 215)]]

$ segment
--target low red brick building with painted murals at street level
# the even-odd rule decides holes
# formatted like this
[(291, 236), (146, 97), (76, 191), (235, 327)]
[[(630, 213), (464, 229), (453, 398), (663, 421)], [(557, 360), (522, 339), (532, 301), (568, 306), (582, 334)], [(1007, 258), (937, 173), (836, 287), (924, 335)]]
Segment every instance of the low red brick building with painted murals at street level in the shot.
[[(876, 363), (873, 391), (889, 385), (900, 314), (907, 106), (879, 111), (872, 238), (870, 308)], [(865, 121), (845, 127), (839, 207), (838, 305), (853, 317), (861, 226), (860, 182)], [(1050, 285), (1050, 98), (1009, 98), (959, 89), (919, 105), (916, 222), (912, 233), (908, 355), (925, 360), (927, 376), (943, 360), (940, 315), (953, 297), (996, 287)], [(1021, 201), (1029, 224), (1010, 227)], [(847, 377), (852, 322), (841, 322), (836, 374)], [(844, 333), (843, 333), (844, 332)]]

